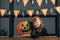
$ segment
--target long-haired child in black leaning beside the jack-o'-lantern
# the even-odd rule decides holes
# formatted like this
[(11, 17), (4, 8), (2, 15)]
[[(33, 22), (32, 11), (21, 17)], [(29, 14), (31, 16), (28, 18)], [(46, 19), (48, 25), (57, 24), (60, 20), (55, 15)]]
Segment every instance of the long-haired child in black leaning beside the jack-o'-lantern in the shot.
[(46, 36), (47, 35), (47, 30), (44, 27), (44, 24), (39, 17), (33, 17), (32, 18), (32, 33), (31, 37), (32, 38), (37, 38), (39, 36)]

